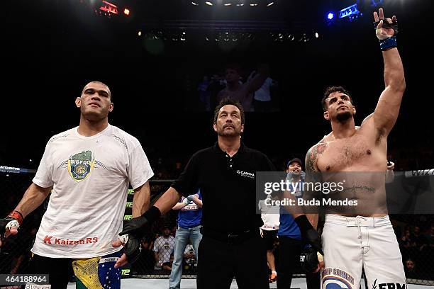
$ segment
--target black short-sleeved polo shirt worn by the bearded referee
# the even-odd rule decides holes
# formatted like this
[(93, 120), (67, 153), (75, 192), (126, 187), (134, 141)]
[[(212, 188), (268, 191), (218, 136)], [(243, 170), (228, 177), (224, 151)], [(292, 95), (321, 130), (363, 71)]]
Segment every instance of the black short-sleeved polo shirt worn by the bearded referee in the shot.
[(256, 172), (274, 171), (265, 154), (245, 147), (230, 157), (218, 143), (196, 152), (172, 187), (183, 196), (200, 188), (202, 225), (217, 232), (244, 232), (263, 225), (256, 213)]

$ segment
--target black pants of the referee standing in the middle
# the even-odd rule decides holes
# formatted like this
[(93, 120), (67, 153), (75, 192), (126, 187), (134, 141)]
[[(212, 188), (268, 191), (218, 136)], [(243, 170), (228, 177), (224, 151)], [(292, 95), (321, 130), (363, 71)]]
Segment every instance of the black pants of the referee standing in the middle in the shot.
[(260, 237), (230, 244), (202, 237), (197, 263), (198, 289), (230, 288), (233, 277), (240, 289), (269, 289), (267, 251)]

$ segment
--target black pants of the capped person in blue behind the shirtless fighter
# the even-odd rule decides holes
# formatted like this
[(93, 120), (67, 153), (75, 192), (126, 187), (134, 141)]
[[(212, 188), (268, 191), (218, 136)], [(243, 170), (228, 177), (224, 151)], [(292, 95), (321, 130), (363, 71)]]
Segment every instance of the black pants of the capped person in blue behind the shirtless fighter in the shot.
[[(277, 266), (277, 288), (291, 288), (292, 274), (300, 271), (300, 253), (303, 243), (300, 240), (279, 236), (279, 266)], [(303, 272), (305, 273), (305, 272)], [(319, 289), (320, 273), (306, 273), (308, 289)]]

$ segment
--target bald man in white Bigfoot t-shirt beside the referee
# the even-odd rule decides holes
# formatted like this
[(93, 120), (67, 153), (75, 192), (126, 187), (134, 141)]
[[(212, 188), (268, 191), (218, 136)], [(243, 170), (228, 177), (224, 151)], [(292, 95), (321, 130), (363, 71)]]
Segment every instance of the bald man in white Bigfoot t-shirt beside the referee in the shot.
[(79, 126), (50, 138), (33, 183), (15, 210), (0, 219), (0, 229), (5, 237), (17, 234), (23, 218), (51, 192), (29, 273), (49, 274), (52, 288), (67, 288), (72, 266), (77, 288), (120, 288), (114, 264), (140, 255), (138, 237), (117, 237), (128, 185), (134, 190), (133, 217), (140, 216), (149, 205), (153, 172), (140, 142), (109, 124), (113, 103), (106, 84), (90, 82), (75, 104)]

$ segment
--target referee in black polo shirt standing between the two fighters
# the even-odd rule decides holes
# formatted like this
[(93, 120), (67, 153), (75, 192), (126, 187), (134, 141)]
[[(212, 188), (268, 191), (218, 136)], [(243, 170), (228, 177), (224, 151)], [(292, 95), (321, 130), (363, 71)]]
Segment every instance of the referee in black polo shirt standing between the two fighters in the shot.
[[(180, 196), (187, 197), (200, 188), (204, 205), (196, 278), (199, 289), (230, 288), (234, 276), (238, 288), (269, 288), (266, 250), (259, 230), (263, 222), (256, 213), (255, 175), (275, 169), (265, 154), (241, 142), (244, 120), (240, 103), (223, 99), (213, 118), (216, 144), (196, 152), (155, 206), (128, 222), (121, 232), (143, 233)], [(306, 216), (298, 219), (308, 224)], [(311, 227), (306, 229), (316, 233)]]

